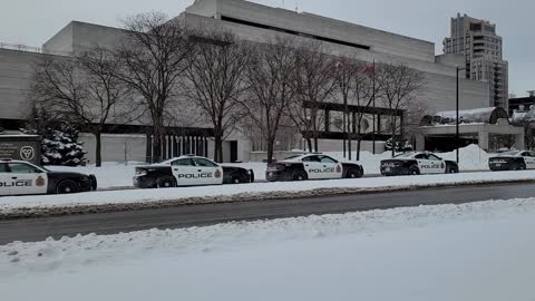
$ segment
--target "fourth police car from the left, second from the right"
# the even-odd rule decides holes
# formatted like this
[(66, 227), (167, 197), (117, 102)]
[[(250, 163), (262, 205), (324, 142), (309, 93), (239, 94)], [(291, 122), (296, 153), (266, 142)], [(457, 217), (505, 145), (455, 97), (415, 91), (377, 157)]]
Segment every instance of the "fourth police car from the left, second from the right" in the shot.
[(391, 159), (381, 161), (381, 174), (386, 176), (456, 174), (458, 172), (459, 166), (457, 163), (445, 161), (427, 152), (411, 152), (398, 155)]

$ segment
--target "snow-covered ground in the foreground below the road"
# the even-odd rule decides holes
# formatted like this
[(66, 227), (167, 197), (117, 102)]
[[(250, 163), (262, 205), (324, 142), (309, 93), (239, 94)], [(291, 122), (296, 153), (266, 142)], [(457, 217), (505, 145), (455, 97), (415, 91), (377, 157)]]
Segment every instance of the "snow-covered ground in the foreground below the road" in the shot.
[(535, 300), (535, 198), (0, 246), (1, 300)]

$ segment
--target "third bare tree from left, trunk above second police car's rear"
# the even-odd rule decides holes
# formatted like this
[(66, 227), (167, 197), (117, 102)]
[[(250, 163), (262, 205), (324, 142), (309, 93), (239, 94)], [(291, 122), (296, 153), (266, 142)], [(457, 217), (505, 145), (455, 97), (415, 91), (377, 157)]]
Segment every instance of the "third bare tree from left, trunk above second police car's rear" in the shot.
[(204, 30), (195, 38), (195, 59), (186, 68), (184, 95), (196, 104), (214, 127), (214, 159), (223, 162), (223, 140), (235, 127), (246, 86), (250, 46), (234, 35)]

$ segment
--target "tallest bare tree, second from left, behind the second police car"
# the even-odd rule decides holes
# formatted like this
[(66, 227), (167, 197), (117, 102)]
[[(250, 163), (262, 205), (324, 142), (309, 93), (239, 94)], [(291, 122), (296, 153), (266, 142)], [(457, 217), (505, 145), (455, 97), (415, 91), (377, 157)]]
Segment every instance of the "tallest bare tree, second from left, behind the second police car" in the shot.
[(152, 162), (162, 161), (165, 115), (194, 54), (189, 31), (160, 12), (142, 13), (124, 21), (127, 35), (117, 54), (123, 68), (118, 78), (143, 98), (153, 127)]

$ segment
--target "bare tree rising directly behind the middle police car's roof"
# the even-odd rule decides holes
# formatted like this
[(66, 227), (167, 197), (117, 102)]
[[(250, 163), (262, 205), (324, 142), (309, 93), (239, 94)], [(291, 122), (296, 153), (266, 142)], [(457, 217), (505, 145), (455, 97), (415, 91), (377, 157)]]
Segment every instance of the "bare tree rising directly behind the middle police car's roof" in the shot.
[(290, 104), (290, 116), (307, 139), (309, 151), (318, 151), (319, 134), (325, 122), (322, 105), (335, 88), (335, 61), (323, 43), (307, 42), (295, 50), (295, 65), (296, 97)]

